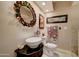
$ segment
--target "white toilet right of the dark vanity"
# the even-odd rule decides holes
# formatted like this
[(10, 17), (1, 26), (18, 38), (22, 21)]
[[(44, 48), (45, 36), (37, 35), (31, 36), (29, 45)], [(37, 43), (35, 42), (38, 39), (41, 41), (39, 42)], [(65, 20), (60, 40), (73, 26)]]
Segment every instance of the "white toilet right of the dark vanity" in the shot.
[(49, 57), (52, 57), (54, 56), (54, 51), (57, 47), (56, 44), (53, 44), (53, 43), (47, 43), (46, 41), (46, 37), (43, 37), (43, 44), (44, 44), (44, 54), (49, 56)]

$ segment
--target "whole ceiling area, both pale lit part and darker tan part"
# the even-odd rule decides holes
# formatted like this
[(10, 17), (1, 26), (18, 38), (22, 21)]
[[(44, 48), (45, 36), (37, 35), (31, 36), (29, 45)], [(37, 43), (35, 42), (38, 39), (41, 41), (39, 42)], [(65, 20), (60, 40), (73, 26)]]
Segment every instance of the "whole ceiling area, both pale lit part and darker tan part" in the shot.
[(62, 11), (72, 6), (72, 1), (34, 1), (44, 13)]

